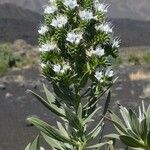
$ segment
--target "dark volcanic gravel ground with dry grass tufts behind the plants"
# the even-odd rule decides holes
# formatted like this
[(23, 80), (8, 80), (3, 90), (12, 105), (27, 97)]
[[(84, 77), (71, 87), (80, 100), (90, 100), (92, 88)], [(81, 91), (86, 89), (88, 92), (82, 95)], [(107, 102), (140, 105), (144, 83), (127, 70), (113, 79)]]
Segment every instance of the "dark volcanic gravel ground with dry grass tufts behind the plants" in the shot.
[[(150, 66), (122, 66), (116, 71), (119, 78), (112, 87), (111, 108), (117, 110), (121, 103), (136, 109), (142, 100), (150, 103)], [(55, 116), (26, 92), (42, 93), (45, 82), (37, 67), (10, 71), (0, 78), (0, 150), (23, 150), (35, 137), (37, 131), (25, 121), (29, 115), (55, 123)]]

